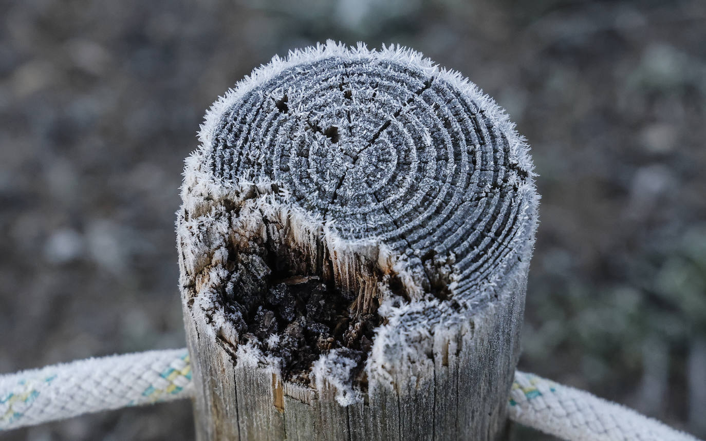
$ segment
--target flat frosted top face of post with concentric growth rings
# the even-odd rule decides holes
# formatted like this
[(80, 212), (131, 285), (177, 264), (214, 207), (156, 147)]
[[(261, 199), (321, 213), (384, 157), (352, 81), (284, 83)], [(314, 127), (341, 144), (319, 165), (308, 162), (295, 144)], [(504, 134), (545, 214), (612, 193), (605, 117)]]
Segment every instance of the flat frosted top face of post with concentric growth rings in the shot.
[[(380, 56), (282, 69), (221, 116), (209, 164), (225, 179), (282, 182), (344, 238), (407, 255), (455, 255), (484, 277), (532, 219), (508, 135), (451, 81)], [(493, 113), (494, 114), (494, 113)]]

